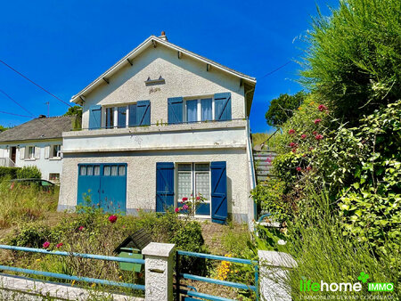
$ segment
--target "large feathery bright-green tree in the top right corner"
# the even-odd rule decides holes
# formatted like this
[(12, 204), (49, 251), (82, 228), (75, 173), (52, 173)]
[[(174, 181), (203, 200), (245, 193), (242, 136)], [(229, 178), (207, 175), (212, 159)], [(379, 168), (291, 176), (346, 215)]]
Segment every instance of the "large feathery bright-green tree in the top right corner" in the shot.
[(313, 20), (301, 83), (352, 126), (400, 99), (400, 9), (399, 0), (344, 0)]

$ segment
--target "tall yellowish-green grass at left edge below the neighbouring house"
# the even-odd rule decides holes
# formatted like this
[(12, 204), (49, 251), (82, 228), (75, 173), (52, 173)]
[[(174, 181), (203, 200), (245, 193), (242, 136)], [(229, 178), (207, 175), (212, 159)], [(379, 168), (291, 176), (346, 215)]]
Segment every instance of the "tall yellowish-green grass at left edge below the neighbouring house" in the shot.
[(34, 186), (0, 182), (0, 229), (12, 224), (42, 219), (49, 211), (55, 211), (59, 199), (59, 188), (41, 191)]

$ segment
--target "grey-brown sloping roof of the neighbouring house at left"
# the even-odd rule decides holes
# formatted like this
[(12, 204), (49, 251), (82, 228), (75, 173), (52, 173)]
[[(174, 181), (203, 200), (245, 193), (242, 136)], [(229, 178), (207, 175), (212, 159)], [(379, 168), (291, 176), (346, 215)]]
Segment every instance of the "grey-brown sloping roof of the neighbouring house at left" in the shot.
[(0, 133), (0, 142), (61, 138), (62, 132), (73, 129), (75, 118), (75, 116), (35, 118)]

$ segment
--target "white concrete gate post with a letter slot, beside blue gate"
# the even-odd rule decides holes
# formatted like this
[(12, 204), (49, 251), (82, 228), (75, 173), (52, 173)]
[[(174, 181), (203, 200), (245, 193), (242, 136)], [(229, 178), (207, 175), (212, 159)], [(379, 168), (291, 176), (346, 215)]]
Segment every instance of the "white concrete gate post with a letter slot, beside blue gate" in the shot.
[(151, 242), (142, 250), (145, 257), (145, 300), (173, 300), (174, 244)]

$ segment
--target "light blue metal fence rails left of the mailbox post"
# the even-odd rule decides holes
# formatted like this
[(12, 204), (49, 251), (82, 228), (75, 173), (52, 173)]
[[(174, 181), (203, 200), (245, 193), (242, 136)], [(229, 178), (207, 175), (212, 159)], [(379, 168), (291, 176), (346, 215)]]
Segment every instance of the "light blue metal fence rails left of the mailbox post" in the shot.
[[(144, 264), (143, 259), (124, 258), (124, 257), (116, 257), (116, 256), (102, 256), (102, 255), (74, 253), (74, 252), (69, 253), (69, 252), (61, 252), (61, 251), (50, 251), (50, 250), (46, 250), (44, 248), (25, 248), (25, 247), (0, 245), (0, 249), (9, 249), (9, 250), (13, 250), (13, 251), (22, 251), (22, 252), (30, 252), (30, 253), (41, 253), (41, 254), (54, 255), (54, 256), (74, 256), (74, 257), (80, 257), (80, 258), (116, 261), (119, 263)], [(145, 289), (145, 286), (141, 285), (141, 284), (118, 282), (118, 281), (107, 281), (107, 280), (102, 280), (102, 279), (97, 279), (97, 278), (78, 277), (78, 276), (67, 275), (67, 274), (62, 274), (62, 273), (50, 273), (50, 272), (45, 272), (45, 271), (22, 269), (22, 268), (8, 266), (8, 265), (0, 265), (0, 270), (11, 271), (11, 272), (16, 272), (16, 273), (27, 273), (27, 274), (32, 274), (32, 275), (40, 275), (40, 276), (68, 280), (68, 281), (83, 281), (83, 282), (89, 282), (89, 283), (109, 285), (109, 286), (114, 286), (114, 287), (119, 287), (119, 288), (140, 289), (140, 290)]]

